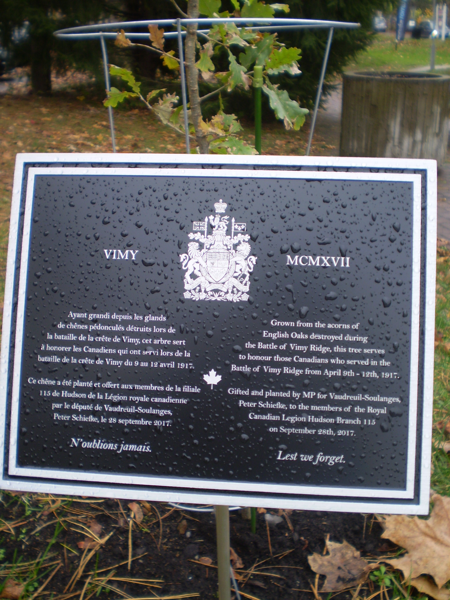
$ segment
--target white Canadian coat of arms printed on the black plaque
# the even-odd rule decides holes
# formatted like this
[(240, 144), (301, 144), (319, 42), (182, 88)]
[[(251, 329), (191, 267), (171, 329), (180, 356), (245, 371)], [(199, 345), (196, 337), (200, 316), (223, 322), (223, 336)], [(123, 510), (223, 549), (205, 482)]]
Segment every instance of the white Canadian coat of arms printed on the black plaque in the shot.
[[(216, 202), (215, 215), (209, 215), (212, 227), (208, 234), (208, 217), (205, 221), (194, 221), (188, 243), (188, 253), (182, 254), (184, 297), (192, 300), (223, 300), (240, 302), (248, 299), (250, 273), (256, 263), (255, 256), (248, 256), (251, 246), (249, 235), (244, 235), (246, 224), (231, 220), (231, 235), (227, 235), (229, 216), (225, 202)], [(200, 250), (200, 245), (203, 249)], [(236, 248), (235, 248), (236, 246)], [(193, 275), (195, 277), (193, 277)]]

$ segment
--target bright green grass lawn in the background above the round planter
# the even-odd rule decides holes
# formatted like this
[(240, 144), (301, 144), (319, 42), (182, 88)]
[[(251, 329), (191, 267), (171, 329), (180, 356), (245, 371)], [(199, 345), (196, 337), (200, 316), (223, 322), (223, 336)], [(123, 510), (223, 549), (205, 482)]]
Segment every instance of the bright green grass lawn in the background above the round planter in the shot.
[[(395, 37), (391, 33), (377, 34), (373, 44), (362, 50), (350, 62), (346, 71), (408, 71), (430, 64), (431, 40), (412, 40), (407, 37), (395, 49)], [(450, 39), (436, 40), (436, 65), (450, 63)]]

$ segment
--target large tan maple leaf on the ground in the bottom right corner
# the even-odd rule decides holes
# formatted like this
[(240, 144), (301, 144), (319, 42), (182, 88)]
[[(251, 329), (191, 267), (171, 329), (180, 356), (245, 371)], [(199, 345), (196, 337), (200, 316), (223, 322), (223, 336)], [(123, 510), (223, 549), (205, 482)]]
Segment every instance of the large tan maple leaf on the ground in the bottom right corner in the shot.
[(428, 520), (406, 515), (386, 515), (382, 538), (407, 550), (399, 559), (385, 560), (403, 571), (406, 579), (427, 574), (438, 587), (450, 579), (450, 498), (434, 494)]

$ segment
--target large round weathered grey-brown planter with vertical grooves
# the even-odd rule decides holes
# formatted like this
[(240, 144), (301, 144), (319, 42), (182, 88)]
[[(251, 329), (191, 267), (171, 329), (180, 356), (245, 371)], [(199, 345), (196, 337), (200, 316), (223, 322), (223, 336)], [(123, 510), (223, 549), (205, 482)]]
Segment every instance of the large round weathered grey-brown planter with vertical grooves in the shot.
[(422, 73), (346, 73), (341, 156), (445, 161), (450, 77)]

